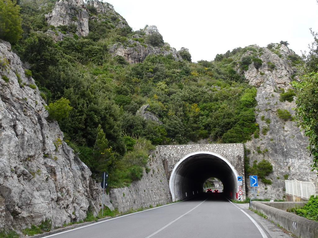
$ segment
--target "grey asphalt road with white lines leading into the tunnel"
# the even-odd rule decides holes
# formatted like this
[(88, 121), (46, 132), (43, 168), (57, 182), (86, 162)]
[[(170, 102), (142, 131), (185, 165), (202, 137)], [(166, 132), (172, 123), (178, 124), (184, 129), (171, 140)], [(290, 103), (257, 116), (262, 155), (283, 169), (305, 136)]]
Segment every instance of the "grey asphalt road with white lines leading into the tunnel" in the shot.
[(52, 238), (271, 238), (243, 209), (221, 194), (173, 203), (96, 222)]

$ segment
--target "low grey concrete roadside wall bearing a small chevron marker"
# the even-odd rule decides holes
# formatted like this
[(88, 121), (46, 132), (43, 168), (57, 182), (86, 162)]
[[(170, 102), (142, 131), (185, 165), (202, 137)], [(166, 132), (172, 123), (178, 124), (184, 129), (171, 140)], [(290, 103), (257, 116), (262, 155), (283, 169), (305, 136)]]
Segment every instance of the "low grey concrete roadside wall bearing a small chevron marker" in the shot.
[[(275, 202), (258, 202), (252, 201), (252, 209), (261, 212), (266, 215), (267, 218), (273, 221), (275, 224), (279, 224), (287, 231), (293, 233), (297, 237), (301, 238), (314, 238), (318, 237), (318, 222), (312, 221), (307, 218), (274, 208)], [(276, 202), (284, 203), (284, 202)], [(288, 205), (297, 204), (298, 202), (288, 202)], [(302, 203), (302, 202), (301, 202)]]

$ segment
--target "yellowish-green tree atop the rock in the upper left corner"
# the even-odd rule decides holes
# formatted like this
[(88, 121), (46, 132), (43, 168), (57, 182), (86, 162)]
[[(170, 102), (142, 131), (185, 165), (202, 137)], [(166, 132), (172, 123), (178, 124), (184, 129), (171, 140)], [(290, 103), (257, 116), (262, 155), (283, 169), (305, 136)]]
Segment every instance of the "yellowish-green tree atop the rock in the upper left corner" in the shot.
[(19, 11), (16, 0), (0, 1), (0, 38), (11, 44), (16, 43), (23, 32)]

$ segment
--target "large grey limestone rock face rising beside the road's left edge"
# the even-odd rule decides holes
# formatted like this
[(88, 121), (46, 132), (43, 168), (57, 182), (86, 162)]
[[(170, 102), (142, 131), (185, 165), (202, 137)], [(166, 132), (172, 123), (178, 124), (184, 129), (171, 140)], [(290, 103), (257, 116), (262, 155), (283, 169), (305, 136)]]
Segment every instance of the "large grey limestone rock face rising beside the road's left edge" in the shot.
[(89, 206), (99, 210), (99, 184), (47, 120), (34, 80), (4, 41), (0, 62), (0, 230), (83, 220)]

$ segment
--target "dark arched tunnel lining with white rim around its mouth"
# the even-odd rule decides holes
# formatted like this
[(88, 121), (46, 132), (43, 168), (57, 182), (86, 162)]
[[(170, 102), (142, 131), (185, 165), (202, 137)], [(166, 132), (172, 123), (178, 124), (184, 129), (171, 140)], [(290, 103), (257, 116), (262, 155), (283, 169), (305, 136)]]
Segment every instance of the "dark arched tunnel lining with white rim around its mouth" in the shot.
[(196, 152), (182, 158), (172, 170), (169, 187), (173, 201), (188, 199), (204, 192), (211, 177), (223, 183), (223, 194), (236, 199), (238, 173), (225, 158), (211, 152)]

